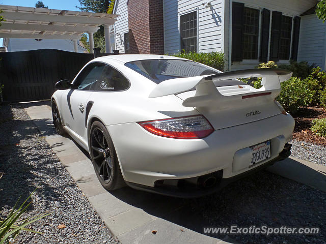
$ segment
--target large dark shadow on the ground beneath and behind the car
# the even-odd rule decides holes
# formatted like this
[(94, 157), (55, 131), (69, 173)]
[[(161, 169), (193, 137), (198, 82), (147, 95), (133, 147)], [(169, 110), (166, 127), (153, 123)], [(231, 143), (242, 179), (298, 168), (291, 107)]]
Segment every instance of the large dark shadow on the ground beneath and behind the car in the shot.
[[(311, 169), (307, 167), (307, 170)], [(326, 180), (325, 175), (319, 174)], [(202, 234), (204, 227), (232, 225), (319, 227), (322, 234), (326, 222), (325, 192), (267, 171), (236, 181), (221, 192), (196, 199), (171, 198), (131, 188), (123, 188), (112, 194), (150, 215)], [(225, 238), (225, 235), (212, 236)], [(302, 239), (323, 243), (320, 235), (231, 235), (231, 238), (241, 243), (302, 243)], [(320, 242), (315, 238), (320, 238)]]

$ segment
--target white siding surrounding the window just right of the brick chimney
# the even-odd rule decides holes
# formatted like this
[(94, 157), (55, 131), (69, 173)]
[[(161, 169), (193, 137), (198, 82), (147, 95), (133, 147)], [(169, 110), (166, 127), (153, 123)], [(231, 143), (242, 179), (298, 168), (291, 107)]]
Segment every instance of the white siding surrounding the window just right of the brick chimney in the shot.
[(197, 51), (223, 51), (224, 0), (210, 1), (211, 8), (203, 6), (202, 0), (164, 0), (163, 3), (165, 53), (180, 52), (179, 15), (192, 11), (198, 11)]

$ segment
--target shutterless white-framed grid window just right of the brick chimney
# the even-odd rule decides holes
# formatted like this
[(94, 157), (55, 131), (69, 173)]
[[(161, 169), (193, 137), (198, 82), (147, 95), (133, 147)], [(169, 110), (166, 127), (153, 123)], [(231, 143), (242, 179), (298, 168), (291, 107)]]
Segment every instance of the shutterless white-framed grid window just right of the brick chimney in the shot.
[(197, 11), (180, 15), (181, 50), (197, 52)]

